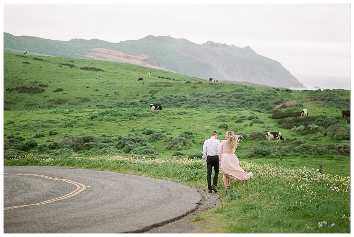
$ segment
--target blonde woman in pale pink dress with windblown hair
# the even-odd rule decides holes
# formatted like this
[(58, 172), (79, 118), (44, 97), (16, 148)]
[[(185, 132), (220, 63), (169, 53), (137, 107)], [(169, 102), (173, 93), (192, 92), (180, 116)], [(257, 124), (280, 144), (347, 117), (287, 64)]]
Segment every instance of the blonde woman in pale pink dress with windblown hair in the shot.
[(235, 150), (240, 139), (240, 135), (235, 135), (233, 131), (227, 131), (226, 140), (221, 142), (219, 152), (220, 168), (223, 173), (224, 185), (230, 188), (230, 177), (238, 180), (248, 180), (253, 177), (253, 173), (246, 173), (239, 165), (239, 159), (235, 156)]

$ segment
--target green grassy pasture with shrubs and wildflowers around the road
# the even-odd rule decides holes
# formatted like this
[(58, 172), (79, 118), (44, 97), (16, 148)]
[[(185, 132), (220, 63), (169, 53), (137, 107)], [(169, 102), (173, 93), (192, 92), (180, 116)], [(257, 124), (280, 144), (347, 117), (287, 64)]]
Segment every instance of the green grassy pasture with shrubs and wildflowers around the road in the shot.
[[(101, 70), (80, 69), (84, 67)], [(138, 81), (140, 77), (143, 81)], [(63, 90), (53, 92), (57, 88)], [(150, 103), (160, 104), (163, 110), (150, 112)], [(285, 122), (270, 118), (302, 108), (307, 108), (308, 118), (287, 117)], [(212, 130), (218, 131), (219, 140), (227, 130), (243, 134), (235, 154), (258, 175), (247, 182), (232, 181), (230, 192), (224, 192), (219, 179), (223, 204), (195, 220), (210, 224), (202, 231), (206, 233), (350, 232), (350, 120), (341, 118), (341, 111), (347, 109), (350, 91), (346, 90), (291, 91), (210, 83), (130, 64), (4, 53), (4, 165), (109, 170), (207, 189), (206, 165), (199, 158), (186, 157), (200, 155)], [(309, 124), (316, 125), (310, 128)], [(285, 142), (277, 145), (272, 140), (267, 145), (265, 131), (281, 132)], [(108, 158), (131, 151), (144, 157), (154, 152), (157, 159), (132, 163)], [(68, 159), (73, 155), (79, 158)], [(90, 159), (97, 156), (106, 158)], [(304, 185), (302, 178), (290, 178), (290, 171), (271, 175), (276, 161), (279, 169), (294, 170), (296, 177), (310, 174), (314, 183), (307, 185), (317, 194), (290, 188), (291, 182)], [(263, 164), (272, 172), (264, 174), (261, 170), (269, 169)], [(322, 181), (343, 186), (349, 180), (349, 191), (346, 187), (327, 192), (319, 176), (311, 173), (318, 173), (319, 165), (326, 173)], [(319, 227), (321, 221), (328, 224)]]

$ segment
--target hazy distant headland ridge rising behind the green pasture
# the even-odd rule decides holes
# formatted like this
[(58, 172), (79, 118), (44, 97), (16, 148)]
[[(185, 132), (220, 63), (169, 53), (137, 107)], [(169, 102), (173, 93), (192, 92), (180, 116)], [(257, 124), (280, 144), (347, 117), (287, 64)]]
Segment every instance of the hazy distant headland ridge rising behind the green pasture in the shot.
[(138, 40), (109, 43), (99, 39), (48, 40), (4, 32), (4, 50), (68, 58), (130, 63), (219, 81), (247, 81), (282, 88), (304, 88), (279, 62), (245, 48), (207, 41), (148, 35)]

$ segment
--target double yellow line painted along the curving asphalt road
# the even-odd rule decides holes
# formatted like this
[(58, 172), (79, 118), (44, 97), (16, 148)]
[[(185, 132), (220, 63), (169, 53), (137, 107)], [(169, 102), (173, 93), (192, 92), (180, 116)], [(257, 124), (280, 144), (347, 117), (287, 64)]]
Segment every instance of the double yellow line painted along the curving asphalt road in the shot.
[(53, 178), (53, 177), (49, 177), (49, 176), (45, 176), (45, 175), (38, 175), (38, 174), (8, 174), (8, 173), (4, 173), (4, 175), (32, 175), (32, 176), (38, 176), (38, 177), (43, 177), (46, 179), (53, 179), (53, 180), (60, 180), (60, 181), (64, 181), (64, 182), (68, 182), (69, 184), (73, 184), (76, 186), (76, 189), (64, 196), (58, 197), (58, 198), (54, 198), (54, 199), (50, 199), (44, 202), (39, 202), (39, 203), (33, 203), (33, 204), (29, 204), (29, 205), (21, 205), (21, 206), (13, 206), (13, 207), (5, 207), (5, 210), (10, 210), (10, 209), (15, 209), (15, 208), (19, 208), (19, 207), (28, 207), (28, 206), (35, 206), (35, 205), (42, 205), (42, 204), (47, 204), (47, 203), (51, 203), (51, 202), (56, 202), (59, 200), (63, 200), (65, 198), (68, 197), (72, 197), (75, 196), (76, 194), (81, 193), (82, 191), (84, 191), (86, 189), (86, 186), (83, 184), (80, 184), (78, 182), (72, 181), (72, 180), (68, 180), (68, 179), (57, 179), (57, 178)]

